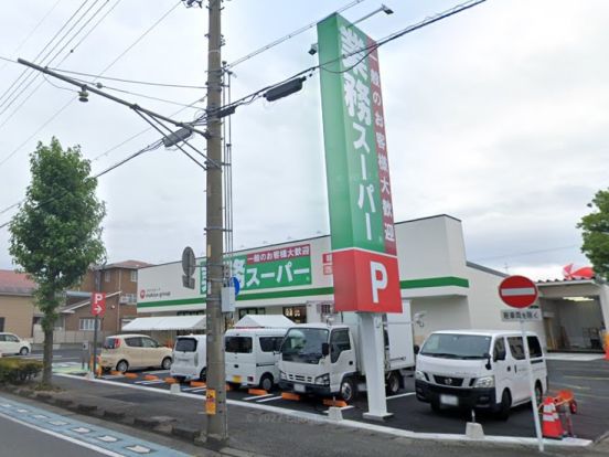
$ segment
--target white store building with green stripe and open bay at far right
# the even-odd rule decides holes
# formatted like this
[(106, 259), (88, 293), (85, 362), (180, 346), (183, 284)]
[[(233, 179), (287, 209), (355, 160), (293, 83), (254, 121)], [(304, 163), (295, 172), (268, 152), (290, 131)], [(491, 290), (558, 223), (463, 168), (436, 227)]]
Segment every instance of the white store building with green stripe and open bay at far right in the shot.
[[(499, 298), (498, 287), (506, 275), (467, 261), (459, 220), (442, 214), (399, 222), (395, 233), (402, 298), (410, 301), (416, 342), (440, 329), (520, 328), (509, 320), (506, 311), (512, 309)], [(202, 265), (204, 261), (197, 259), (191, 278), (184, 278), (180, 262), (141, 268), (138, 316), (204, 313)], [(266, 313), (317, 322), (334, 313), (330, 236), (236, 252), (232, 266), (241, 285), (235, 320)], [(189, 280), (193, 289), (184, 287)], [(534, 307), (541, 308), (543, 319), (527, 322), (526, 328), (549, 349), (598, 349), (595, 334), (609, 319), (609, 287), (594, 279), (538, 286)]]

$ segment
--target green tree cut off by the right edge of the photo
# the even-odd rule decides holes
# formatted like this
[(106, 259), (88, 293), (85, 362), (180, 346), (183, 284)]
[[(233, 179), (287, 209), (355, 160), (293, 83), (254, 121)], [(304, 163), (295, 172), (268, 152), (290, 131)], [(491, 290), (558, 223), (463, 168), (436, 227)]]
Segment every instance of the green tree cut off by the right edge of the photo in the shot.
[(581, 228), (581, 252), (592, 263), (597, 275), (609, 280), (609, 189), (596, 193), (588, 208), (592, 212), (577, 224)]

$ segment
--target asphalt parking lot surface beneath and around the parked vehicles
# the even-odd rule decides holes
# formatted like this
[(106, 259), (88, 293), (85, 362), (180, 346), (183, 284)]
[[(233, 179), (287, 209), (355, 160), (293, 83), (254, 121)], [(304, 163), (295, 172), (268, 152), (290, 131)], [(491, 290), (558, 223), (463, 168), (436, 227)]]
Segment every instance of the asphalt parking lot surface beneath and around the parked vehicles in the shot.
[[(556, 359), (556, 355), (552, 357)], [(70, 370), (71, 364), (73, 369)], [(600, 359), (580, 361), (578, 358), (558, 357), (557, 360), (548, 360), (551, 394), (559, 390), (569, 389), (574, 392), (579, 406), (577, 415), (573, 416), (575, 436), (585, 439), (597, 439), (609, 431), (609, 362)], [(57, 362), (57, 373), (77, 371), (75, 362)], [(156, 376), (157, 379), (153, 379)], [(146, 387), (147, 390), (170, 390), (165, 382), (168, 371), (142, 370), (132, 371), (128, 376), (105, 374), (103, 380), (111, 383), (130, 384), (131, 386)], [(180, 385), (181, 392), (204, 397), (203, 385)], [(229, 401), (239, 402), (242, 405), (263, 405), (291, 410), (298, 414), (309, 413), (327, 415), (328, 406), (318, 397), (301, 397), (299, 401), (281, 397), (281, 392), (275, 390), (263, 395), (255, 395), (247, 389), (232, 390), (227, 393)], [(463, 434), (466, 423), (471, 419), (469, 413), (460, 411), (442, 411), (436, 414), (428, 404), (417, 401), (414, 394), (414, 379), (407, 378), (406, 386), (397, 395), (387, 397), (387, 408), (394, 414), (384, 425), (405, 431), (431, 434)], [(345, 419), (366, 422), (363, 413), (366, 412), (365, 393), (362, 393), (354, 402), (342, 408)], [(479, 411), (476, 414), (477, 422), (481, 423), (487, 436), (534, 437), (535, 429), (530, 405), (522, 405), (512, 410), (510, 418), (501, 421), (490, 413)], [(375, 423), (377, 424), (377, 423)]]

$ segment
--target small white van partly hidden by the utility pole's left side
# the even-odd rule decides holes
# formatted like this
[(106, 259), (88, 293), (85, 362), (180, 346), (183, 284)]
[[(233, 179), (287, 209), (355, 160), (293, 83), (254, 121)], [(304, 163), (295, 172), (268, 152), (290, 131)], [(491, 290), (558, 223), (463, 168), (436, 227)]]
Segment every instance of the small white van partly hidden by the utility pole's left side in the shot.
[(204, 334), (178, 337), (173, 363), (169, 372), (178, 381), (205, 380), (207, 375), (207, 340)]

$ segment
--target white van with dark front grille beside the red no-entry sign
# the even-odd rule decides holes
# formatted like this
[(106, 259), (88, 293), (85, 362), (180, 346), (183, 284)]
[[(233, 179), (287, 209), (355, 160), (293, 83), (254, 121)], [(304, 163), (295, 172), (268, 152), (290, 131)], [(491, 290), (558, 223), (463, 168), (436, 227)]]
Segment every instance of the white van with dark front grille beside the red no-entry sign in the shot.
[[(526, 332), (537, 402), (547, 391), (547, 368), (539, 343)], [(507, 418), (510, 408), (531, 401), (522, 333), (499, 330), (445, 330), (431, 333), (417, 355), (417, 398), (442, 406), (488, 408)]]

